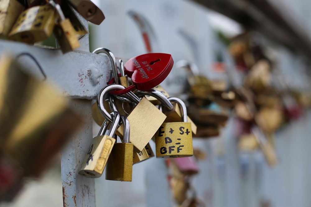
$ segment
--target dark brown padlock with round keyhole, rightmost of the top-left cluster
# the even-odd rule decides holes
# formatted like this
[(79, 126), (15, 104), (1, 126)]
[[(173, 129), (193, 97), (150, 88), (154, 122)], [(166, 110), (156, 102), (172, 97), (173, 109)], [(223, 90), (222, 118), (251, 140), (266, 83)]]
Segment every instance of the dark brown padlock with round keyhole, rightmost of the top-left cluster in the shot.
[(91, 0), (68, 0), (72, 7), (77, 10), (86, 20), (100, 25), (105, 16)]

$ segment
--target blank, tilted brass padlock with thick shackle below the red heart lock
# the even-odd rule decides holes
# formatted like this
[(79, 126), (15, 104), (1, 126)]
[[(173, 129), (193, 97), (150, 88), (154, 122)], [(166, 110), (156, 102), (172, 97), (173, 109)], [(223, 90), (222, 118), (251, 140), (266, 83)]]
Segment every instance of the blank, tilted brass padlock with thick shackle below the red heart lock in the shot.
[[(111, 117), (104, 107), (105, 96), (111, 90), (120, 89), (124, 89), (124, 87), (116, 84), (108, 85), (101, 90), (97, 97), (97, 105), (100, 108), (100, 112), (109, 121)], [(134, 145), (135, 150), (140, 152), (151, 140), (166, 116), (146, 98), (140, 100), (132, 92), (128, 92), (127, 95), (137, 104), (127, 118), (131, 125), (130, 142)], [(123, 137), (123, 125), (118, 128), (116, 134), (121, 138)]]

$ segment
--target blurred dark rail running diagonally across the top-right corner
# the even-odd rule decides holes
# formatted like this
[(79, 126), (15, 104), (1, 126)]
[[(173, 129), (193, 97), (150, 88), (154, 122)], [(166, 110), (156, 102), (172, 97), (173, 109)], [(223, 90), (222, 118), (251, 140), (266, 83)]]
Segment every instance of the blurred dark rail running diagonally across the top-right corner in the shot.
[(244, 25), (255, 29), (275, 42), (311, 56), (311, 40), (298, 20), (288, 17), (284, 6), (272, 0), (193, 0)]

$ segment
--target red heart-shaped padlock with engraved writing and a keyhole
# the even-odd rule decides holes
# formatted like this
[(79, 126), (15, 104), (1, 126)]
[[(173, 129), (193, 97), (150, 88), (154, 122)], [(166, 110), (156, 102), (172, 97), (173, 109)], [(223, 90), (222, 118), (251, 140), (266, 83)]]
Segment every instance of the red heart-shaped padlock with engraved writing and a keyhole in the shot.
[(156, 87), (168, 76), (173, 64), (172, 55), (166, 53), (148, 53), (133, 57), (124, 65), (125, 73), (132, 79), (133, 85), (111, 93), (121, 95), (134, 89), (145, 91)]

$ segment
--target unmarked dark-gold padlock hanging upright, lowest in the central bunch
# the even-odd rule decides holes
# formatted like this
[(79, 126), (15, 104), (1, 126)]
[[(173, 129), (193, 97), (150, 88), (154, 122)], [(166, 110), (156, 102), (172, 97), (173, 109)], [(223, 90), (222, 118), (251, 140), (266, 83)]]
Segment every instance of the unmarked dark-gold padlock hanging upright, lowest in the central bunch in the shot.
[(121, 116), (123, 123), (123, 142), (115, 143), (107, 162), (106, 180), (132, 181), (133, 144), (130, 143), (130, 123)]

